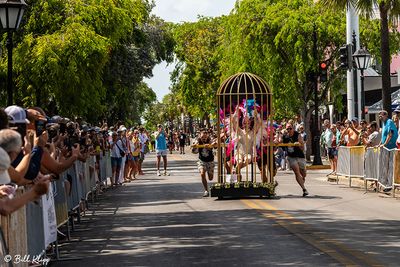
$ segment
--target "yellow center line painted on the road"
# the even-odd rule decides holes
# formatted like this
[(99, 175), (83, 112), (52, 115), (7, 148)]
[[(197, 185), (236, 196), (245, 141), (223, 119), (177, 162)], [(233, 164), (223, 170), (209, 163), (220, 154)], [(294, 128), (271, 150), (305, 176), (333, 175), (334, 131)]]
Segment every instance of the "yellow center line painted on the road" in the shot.
[(378, 263), (369, 255), (351, 249), (345, 244), (333, 240), (329, 236), (322, 234), (320, 231), (313, 229), (310, 225), (295, 219), (284, 211), (278, 210), (265, 201), (242, 200), (242, 202), (246, 206), (258, 210), (265, 218), (274, 220), (277, 224), (292, 234), (346, 266), (357, 266), (359, 265), (357, 262), (361, 262), (368, 266), (383, 266), (383, 264)]

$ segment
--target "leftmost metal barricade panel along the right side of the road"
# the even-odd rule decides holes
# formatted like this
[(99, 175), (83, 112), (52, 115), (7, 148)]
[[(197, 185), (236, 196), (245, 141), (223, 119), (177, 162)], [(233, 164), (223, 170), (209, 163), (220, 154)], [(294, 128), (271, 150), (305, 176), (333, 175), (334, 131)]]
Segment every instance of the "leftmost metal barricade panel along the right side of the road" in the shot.
[(341, 146), (338, 150), (337, 175), (352, 178), (364, 178), (364, 146)]

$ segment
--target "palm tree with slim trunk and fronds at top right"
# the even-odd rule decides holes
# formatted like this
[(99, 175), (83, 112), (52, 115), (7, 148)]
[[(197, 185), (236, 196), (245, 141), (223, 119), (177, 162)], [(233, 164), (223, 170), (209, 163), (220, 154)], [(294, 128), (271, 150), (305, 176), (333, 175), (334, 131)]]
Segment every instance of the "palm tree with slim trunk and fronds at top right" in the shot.
[(379, 9), (381, 24), (381, 58), (382, 58), (382, 102), (383, 109), (391, 113), (391, 84), (389, 48), (389, 23), (396, 22), (400, 16), (399, 0), (321, 0), (333, 8), (346, 8), (351, 3), (367, 19), (373, 18), (376, 8)]

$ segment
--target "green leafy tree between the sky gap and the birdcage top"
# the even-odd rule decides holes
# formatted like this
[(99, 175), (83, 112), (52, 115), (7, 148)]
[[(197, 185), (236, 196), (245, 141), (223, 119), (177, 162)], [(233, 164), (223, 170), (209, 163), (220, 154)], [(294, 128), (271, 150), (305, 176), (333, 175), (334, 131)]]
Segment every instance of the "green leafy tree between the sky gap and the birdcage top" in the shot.
[(200, 17), (198, 22), (186, 22), (174, 28), (175, 55), (179, 62), (173, 74), (172, 91), (181, 96), (190, 114), (207, 121), (216, 110), (223, 19)]

